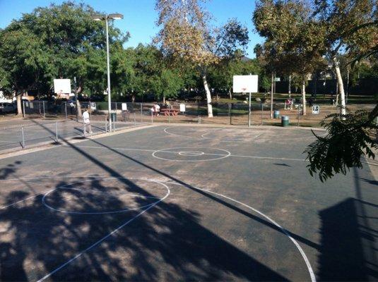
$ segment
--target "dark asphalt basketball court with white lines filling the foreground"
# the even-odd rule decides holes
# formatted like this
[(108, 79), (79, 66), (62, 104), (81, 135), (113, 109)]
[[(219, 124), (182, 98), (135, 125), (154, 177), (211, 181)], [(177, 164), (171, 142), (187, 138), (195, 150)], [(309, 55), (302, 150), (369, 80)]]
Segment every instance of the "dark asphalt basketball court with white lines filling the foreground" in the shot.
[(313, 140), (160, 125), (1, 159), (0, 278), (377, 280), (377, 181), (311, 178)]

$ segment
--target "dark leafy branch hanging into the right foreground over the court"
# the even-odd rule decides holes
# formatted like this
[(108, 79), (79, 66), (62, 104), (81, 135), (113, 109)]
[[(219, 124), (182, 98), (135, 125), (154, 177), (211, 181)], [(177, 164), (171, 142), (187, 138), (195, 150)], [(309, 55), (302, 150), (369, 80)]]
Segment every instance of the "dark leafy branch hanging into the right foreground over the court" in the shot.
[[(361, 157), (374, 159), (372, 149), (378, 149), (372, 133), (377, 133), (375, 118), (378, 116), (378, 105), (372, 111), (347, 112), (345, 115), (330, 114), (320, 125), (327, 134), (318, 136), (306, 149), (309, 160), (309, 174), (318, 173), (321, 182), (332, 178), (336, 173), (344, 175), (351, 167), (362, 168)], [(330, 121), (331, 119), (331, 121)]]

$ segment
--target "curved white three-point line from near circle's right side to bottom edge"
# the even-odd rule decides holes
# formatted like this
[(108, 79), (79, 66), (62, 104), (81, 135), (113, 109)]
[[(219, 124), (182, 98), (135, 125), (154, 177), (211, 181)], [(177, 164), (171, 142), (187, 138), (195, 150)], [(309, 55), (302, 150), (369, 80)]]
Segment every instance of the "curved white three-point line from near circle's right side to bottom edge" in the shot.
[[(161, 183), (174, 184), (174, 185), (180, 185), (180, 186), (186, 187), (185, 185), (182, 185), (181, 183), (172, 183), (170, 181), (160, 181), (160, 182)], [(242, 206), (247, 207), (248, 209), (251, 209), (252, 211), (256, 212), (256, 214), (259, 214), (259, 215), (263, 216), (265, 219), (267, 219), (268, 221), (270, 221), (271, 223), (273, 223), (275, 226), (277, 226), (278, 228), (280, 228), (280, 230), (283, 231), (283, 233), (285, 233), (285, 235), (288, 236), (288, 238), (293, 242), (293, 244), (295, 245), (295, 247), (297, 247), (297, 250), (300, 252), (300, 255), (302, 256), (303, 260), (305, 261), (305, 264), (306, 264), (307, 269), (309, 271), (309, 276), (311, 277), (311, 281), (312, 282), (316, 282), (317, 281), (317, 278), (315, 277), (315, 274), (314, 274), (314, 271), (312, 269), (312, 266), (309, 263), (309, 259), (307, 258), (307, 255), (305, 254), (305, 251), (302, 249), (302, 247), (300, 246), (300, 244), (297, 243), (297, 240), (295, 240), (289, 234), (289, 232), (285, 228), (283, 228), (282, 226), (280, 226), (276, 221), (274, 221), (273, 219), (271, 219), (269, 216), (267, 216), (263, 212), (260, 212), (258, 209), (254, 209), (254, 207), (251, 207), (251, 206), (249, 206), (247, 204), (244, 204), (244, 203), (242, 203), (242, 202), (240, 202), (238, 200), (232, 199), (231, 197), (228, 197), (226, 195), (223, 195), (223, 194), (220, 194), (220, 193), (217, 193), (217, 192), (213, 192), (211, 190), (205, 190), (205, 189), (202, 189), (202, 188), (197, 188), (197, 187), (194, 187), (194, 186), (190, 186), (190, 188), (189, 187), (186, 187), (186, 188), (187, 189), (194, 188), (196, 190), (201, 190), (201, 191), (204, 191), (204, 192), (208, 192), (208, 193), (211, 193), (213, 195), (218, 195), (219, 197), (224, 197), (225, 199), (228, 199), (228, 200), (230, 200), (232, 202), (236, 202), (237, 204), (241, 204)]]

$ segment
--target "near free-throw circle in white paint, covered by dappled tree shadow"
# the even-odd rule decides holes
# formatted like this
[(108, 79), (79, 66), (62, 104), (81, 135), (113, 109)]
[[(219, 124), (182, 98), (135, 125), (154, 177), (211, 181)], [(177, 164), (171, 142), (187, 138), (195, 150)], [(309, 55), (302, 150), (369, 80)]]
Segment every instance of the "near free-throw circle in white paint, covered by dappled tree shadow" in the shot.
[(62, 185), (42, 197), (45, 207), (67, 214), (115, 214), (150, 207), (167, 185), (139, 178), (96, 178)]

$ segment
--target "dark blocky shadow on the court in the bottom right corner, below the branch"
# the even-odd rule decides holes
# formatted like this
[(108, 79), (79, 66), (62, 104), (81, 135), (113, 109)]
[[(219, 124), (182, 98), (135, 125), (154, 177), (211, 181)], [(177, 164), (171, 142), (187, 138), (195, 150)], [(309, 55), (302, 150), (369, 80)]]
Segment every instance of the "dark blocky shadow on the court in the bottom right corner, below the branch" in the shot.
[[(319, 212), (321, 248), (318, 277), (321, 281), (376, 281), (378, 278), (375, 217), (378, 205), (362, 200), (355, 168), (357, 198), (349, 197)], [(372, 185), (374, 183), (368, 182)]]

